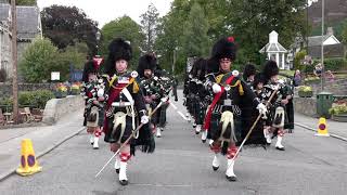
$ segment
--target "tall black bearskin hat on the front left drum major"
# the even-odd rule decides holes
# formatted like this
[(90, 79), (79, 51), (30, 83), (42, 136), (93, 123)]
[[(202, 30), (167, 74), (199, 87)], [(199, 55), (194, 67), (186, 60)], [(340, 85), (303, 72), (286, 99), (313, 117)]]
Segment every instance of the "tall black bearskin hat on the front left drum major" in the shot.
[(129, 42), (123, 38), (114, 39), (108, 46), (108, 57), (105, 66), (105, 72), (113, 75), (115, 70), (115, 62), (125, 60), (129, 62), (132, 57), (132, 49)]

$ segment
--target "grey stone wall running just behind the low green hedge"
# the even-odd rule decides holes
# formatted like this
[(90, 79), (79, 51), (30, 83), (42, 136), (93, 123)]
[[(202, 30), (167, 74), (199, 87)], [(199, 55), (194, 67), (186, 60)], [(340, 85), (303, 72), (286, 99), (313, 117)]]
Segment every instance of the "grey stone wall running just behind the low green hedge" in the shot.
[[(53, 83), (18, 83), (18, 91), (53, 90)], [(12, 96), (12, 83), (0, 82), (1, 98)]]

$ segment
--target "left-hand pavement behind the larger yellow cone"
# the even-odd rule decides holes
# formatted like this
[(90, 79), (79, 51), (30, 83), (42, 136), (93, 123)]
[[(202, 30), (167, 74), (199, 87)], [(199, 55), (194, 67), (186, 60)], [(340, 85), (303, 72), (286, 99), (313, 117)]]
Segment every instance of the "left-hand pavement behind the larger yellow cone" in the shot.
[(85, 129), (81, 126), (82, 112), (70, 113), (53, 126), (0, 129), (0, 181), (18, 168), (23, 139), (31, 139), (36, 157), (40, 158)]

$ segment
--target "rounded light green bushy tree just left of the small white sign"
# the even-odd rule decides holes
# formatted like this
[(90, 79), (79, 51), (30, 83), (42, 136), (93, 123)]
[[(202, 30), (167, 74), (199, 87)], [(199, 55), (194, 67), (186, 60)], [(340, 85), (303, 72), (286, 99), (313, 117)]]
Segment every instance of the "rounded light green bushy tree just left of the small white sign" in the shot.
[(25, 50), (20, 63), (24, 79), (28, 82), (49, 80), (51, 72), (59, 70), (55, 69), (59, 66), (56, 56), (57, 48), (49, 39), (35, 39)]

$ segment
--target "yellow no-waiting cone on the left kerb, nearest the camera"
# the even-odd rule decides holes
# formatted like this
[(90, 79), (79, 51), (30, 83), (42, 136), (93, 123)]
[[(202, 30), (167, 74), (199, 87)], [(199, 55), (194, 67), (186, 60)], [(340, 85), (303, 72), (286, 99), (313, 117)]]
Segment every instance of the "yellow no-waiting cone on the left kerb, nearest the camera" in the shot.
[(36, 161), (33, 143), (30, 139), (22, 140), (21, 154), (21, 166), (16, 170), (18, 174), (30, 176), (42, 170), (42, 167), (39, 167), (38, 162)]

